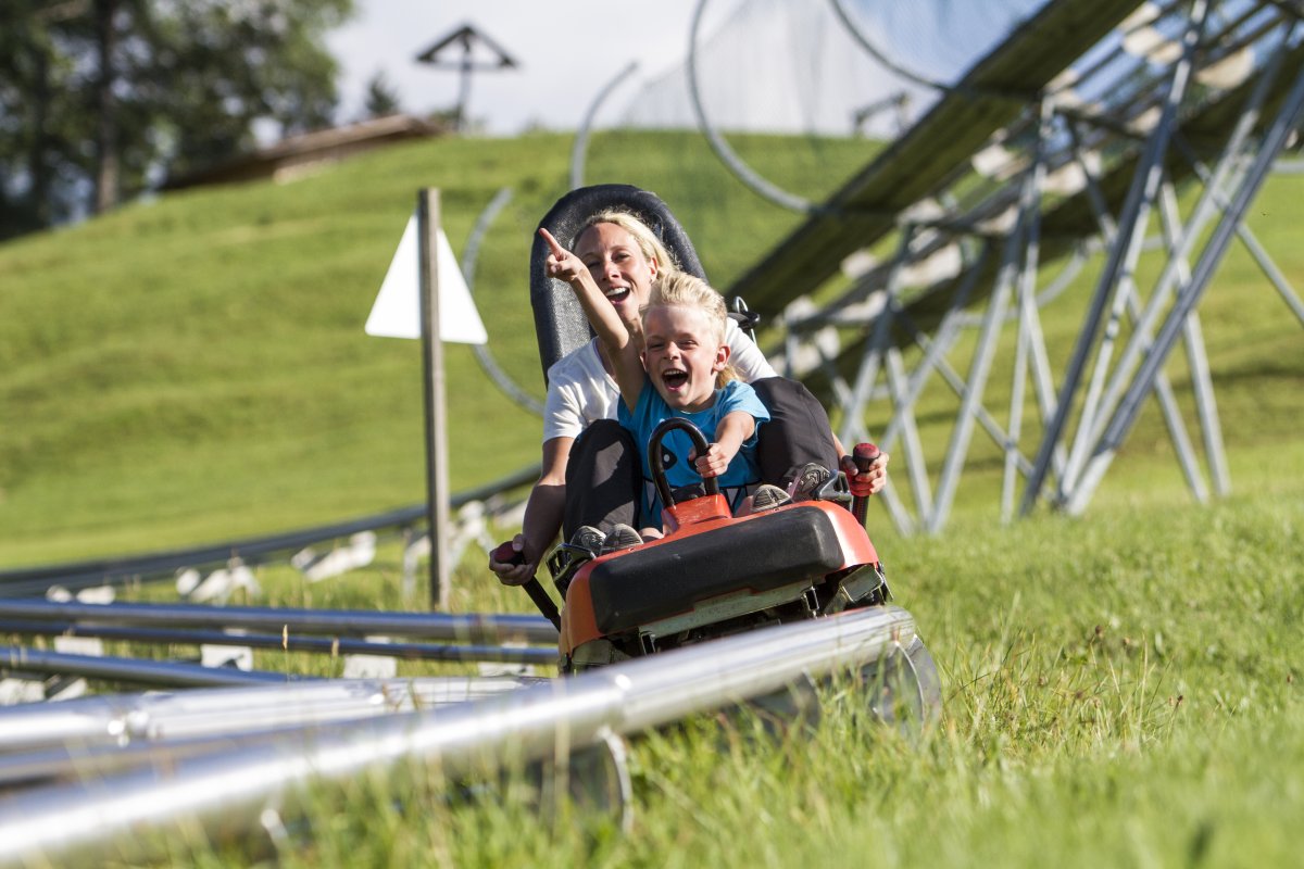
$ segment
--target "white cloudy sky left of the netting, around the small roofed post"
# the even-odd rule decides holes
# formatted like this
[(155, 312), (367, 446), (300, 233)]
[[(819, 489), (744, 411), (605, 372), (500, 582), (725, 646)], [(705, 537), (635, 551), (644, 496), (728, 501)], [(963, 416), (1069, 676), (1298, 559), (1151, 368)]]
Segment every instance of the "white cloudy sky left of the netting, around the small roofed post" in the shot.
[[(366, 85), (383, 70), (402, 107), (413, 113), (451, 108), (460, 73), (419, 64), (416, 56), (464, 23), (486, 34), (518, 69), (473, 73), (469, 112), (488, 132), (514, 134), (531, 122), (575, 129), (597, 94), (631, 61), (655, 76), (687, 51), (698, 0), (359, 0), (351, 23), (327, 36), (343, 68), (340, 120), (363, 116)], [(715, 0), (705, 27), (735, 0)], [(705, 30), (703, 33), (709, 33)], [(458, 50), (460, 52), (460, 50)], [(452, 56), (460, 56), (455, 53)], [(600, 115), (618, 112), (631, 91), (615, 93)]]

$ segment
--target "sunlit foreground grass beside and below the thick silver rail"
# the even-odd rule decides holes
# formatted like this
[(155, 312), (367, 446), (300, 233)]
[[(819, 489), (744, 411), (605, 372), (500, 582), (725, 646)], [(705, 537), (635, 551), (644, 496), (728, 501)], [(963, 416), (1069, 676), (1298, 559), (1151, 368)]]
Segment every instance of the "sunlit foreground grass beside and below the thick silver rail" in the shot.
[[(318, 790), (309, 826), (262, 857), (176, 835), (166, 862), (1294, 865), (1301, 528), (1296, 478), (1208, 508), (1179, 494), (1073, 521), (961, 520), (944, 541), (885, 534), (943, 679), (941, 723), (918, 739), (828, 691), (814, 735), (708, 719), (634, 740), (629, 835), (602, 816), (541, 819), (520, 790), (450, 804), (437, 775), (406, 767)], [(265, 585), (284, 603), (356, 606), (370, 588), (394, 606), (396, 573), (391, 552), (340, 584), (287, 571)], [(526, 611), (496, 585), (463, 572), (459, 605)]]

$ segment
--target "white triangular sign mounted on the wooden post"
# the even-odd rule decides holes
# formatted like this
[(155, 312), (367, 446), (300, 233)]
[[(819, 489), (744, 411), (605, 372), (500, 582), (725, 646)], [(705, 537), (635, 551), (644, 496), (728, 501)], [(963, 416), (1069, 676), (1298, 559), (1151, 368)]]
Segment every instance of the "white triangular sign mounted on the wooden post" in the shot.
[[(471, 301), (471, 289), (462, 278), (458, 261), (452, 255), (449, 237), (438, 232), (439, 268), (439, 337), (459, 344), (485, 344), (489, 335), (480, 321), (480, 313)], [(390, 270), (385, 272), (381, 292), (366, 318), (366, 334), (381, 337), (421, 337), (420, 301), (421, 254), (417, 249), (416, 215), (394, 251)]]

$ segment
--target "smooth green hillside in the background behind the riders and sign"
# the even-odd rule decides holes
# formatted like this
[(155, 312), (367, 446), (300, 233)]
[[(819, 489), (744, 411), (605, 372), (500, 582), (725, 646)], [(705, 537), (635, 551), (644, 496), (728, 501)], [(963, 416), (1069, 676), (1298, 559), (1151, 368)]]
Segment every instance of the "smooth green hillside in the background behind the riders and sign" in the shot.
[[(875, 147), (733, 143), (767, 177), (812, 198)], [(528, 250), (569, 186), (570, 147), (558, 134), (406, 145), (292, 184), (168, 194), (0, 245), (0, 565), (189, 546), (420, 502), (417, 343), (363, 334), (416, 192), (442, 190), (460, 253), (481, 210), (512, 189), (481, 246), (475, 292), (498, 362), (541, 395)], [(798, 220), (689, 133), (601, 134), (585, 181), (657, 192), (721, 287)], [(1304, 178), (1273, 178), (1252, 220), (1296, 284), (1304, 253), (1290, 238), (1301, 194)], [(1270, 482), (1283, 463), (1299, 469), (1299, 323), (1239, 249), (1205, 310), (1237, 485)], [(1043, 315), (1061, 370), (1077, 314)], [(469, 348), (450, 347), (447, 366), (452, 487), (537, 460), (539, 420)], [(1008, 391), (999, 373), (992, 390)], [(943, 444), (952, 414), (939, 408), (931, 425), (925, 416), (926, 440)], [(1104, 503), (1180, 489), (1154, 417), (1129, 442), (1128, 470), (1111, 474)], [(992, 448), (975, 439), (974, 451), (977, 479), (999, 483)], [(962, 498), (977, 503), (965, 486)], [(994, 513), (990, 494), (982, 504)]]

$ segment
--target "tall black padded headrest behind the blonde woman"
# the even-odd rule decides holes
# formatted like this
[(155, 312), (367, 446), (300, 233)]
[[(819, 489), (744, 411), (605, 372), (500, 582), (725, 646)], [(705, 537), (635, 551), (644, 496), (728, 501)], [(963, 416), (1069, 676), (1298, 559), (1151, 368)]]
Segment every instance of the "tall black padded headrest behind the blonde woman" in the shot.
[[(698, 251), (670, 210), (655, 193), (629, 184), (599, 184), (571, 190), (557, 201), (539, 225), (553, 233), (562, 246), (570, 248), (584, 221), (608, 208), (634, 214), (661, 238), (681, 270), (705, 280)], [(529, 304), (535, 309), (535, 334), (539, 336), (539, 358), (545, 378), (557, 360), (593, 336), (571, 288), (544, 274), (548, 253), (548, 242), (536, 232), (529, 251)]]

